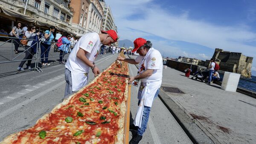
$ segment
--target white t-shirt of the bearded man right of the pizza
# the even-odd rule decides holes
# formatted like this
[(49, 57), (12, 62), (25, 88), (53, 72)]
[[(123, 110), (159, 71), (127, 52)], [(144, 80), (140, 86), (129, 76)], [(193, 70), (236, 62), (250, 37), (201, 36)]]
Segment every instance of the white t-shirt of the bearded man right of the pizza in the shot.
[[(149, 51), (148, 51), (149, 52)], [(136, 62), (144, 62), (140, 67), (140, 73), (143, 73), (147, 69), (152, 69), (153, 74), (144, 79), (140, 79), (141, 82), (157, 82), (162, 81), (163, 77), (163, 58), (159, 51), (152, 49), (149, 56), (144, 61), (145, 56), (137, 56)]]

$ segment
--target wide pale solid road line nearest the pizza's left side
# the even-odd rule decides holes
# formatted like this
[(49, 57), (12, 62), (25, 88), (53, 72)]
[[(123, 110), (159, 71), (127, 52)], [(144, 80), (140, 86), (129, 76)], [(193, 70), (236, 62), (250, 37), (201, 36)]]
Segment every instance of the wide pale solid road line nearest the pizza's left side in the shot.
[(26, 105), (26, 104), (28, 104), (28, 103), (34, 101), (35, 99), (38, 99), (38, 98), (40, 98), (41, 96), (44, 96), (46, 93), (49, 93), (50, 91), (54, 90), (55, 88), (60, 87), (61, 85), (65, 84), (65, 83), (66, 83), (66, 81), (61, 81), (61, 82), (59, 82), (57, 85), (54, 85), (52, 88), (46, 89), (46, 90), (42, 91), (41, 93), (38, 93), (37, 95), (32, 96), (30, 99), (27, 99), (27, 100), (25, 100), (25, 101), (23, 101), (23, 102), (20, 102), (20, 103), (18, 103), (17, 105), (15, 105), (15, 106), (13, 106), (13, 107), (11, 107), (11, 108), (5, 110), (5, 111), (2, 111), (2, 112), (0, 113), (0, 119), (2, 119), (3, 117), (9, 115), (9, 114), (12, 113), (13, 111), (20, 109), (20, 108), (22, 107), (22, 105)]

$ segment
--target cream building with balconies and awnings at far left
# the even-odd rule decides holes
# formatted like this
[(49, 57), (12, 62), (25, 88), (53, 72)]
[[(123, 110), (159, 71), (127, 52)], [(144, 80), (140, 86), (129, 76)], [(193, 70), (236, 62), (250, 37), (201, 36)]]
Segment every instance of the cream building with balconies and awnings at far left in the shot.
[(70, 0), (0, 0), (0, 17), (12, 20), (12, 26), (22, 21), (71, 32), (73, 10), (69, 4)]

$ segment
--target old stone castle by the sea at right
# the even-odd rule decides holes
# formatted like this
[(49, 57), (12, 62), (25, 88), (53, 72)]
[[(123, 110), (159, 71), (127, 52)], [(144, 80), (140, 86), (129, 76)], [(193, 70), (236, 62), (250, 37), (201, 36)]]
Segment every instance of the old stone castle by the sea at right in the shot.
[[(242, 53), (235, 53), (230, 51), (223, 51), (215, 48), (213, 59), (219, 64), (221, 71), (229, 71), (233, 73), (240, 73), (241, 76), (250, 78), (253, 57), (244, 56)], [(208, 62), (207, 62), (208, 61)], [(209, 64), (209, 60), (205, 63)]]

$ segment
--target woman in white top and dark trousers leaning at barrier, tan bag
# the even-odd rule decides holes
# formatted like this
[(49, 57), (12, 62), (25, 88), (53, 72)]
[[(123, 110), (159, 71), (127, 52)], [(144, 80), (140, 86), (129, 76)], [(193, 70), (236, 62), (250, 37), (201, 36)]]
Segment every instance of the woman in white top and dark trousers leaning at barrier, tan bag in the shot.
[(37, 34), (35, 34), (35, 26), (33, 24), (30, 24), (28, 26), (27, 31), (25, 32), (25, 36), (26, 36), (27, 39), (32, 39), (32, 40), (28, 40), (28, 43), (25, 46), (25, 49), (26, 49), (25, 57), (23, 58), (23, 61), (20, 62), (20, 65), (17, 68), (17, 70), (25, 71), (22, 67), (23, 67), (23, 65), (24, 65), (24, 63), (26, 62), (27, 59), (30, 59), (30, 60), (27, 60), (28, 61), (27, 68), (28, 68), (28, 70), (31, 70), (30, 65), (31, 65), (31, 61), (32, 61), (32, 58), (33, 58), (33, 55), (34, 55), (34, 49), (32, 48), (31, 44), (34, 41), (34, 38), (36, 36), (38, 36), (39, 34), (40, 34), (39, 32)]

